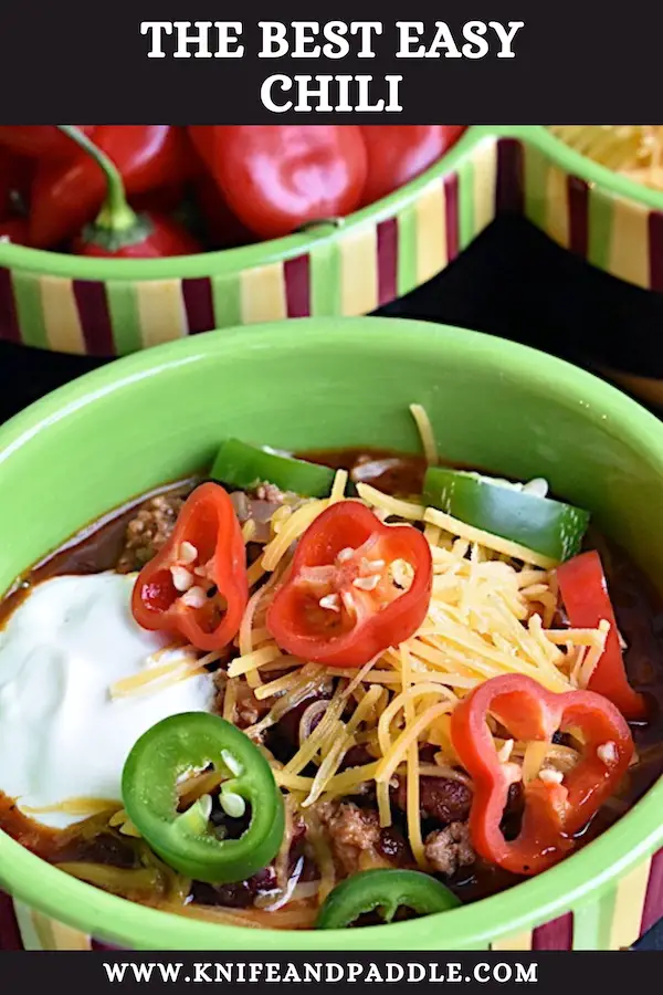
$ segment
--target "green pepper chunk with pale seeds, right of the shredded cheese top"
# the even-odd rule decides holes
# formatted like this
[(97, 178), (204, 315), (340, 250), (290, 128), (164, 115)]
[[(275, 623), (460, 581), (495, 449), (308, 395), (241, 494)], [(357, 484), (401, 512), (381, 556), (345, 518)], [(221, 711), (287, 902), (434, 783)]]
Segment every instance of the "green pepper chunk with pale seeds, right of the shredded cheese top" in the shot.
[(580, 552), (589, 512), (519, 490), (478, 473), (430, 467), (423, 479), (427, 505), (519, 543), (557, 563)]

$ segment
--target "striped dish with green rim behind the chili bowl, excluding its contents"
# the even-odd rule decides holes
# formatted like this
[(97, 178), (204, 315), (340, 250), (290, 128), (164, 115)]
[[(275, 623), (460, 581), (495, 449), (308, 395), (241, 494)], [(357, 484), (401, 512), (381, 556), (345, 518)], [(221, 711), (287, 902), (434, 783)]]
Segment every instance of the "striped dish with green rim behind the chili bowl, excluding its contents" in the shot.
[[(506, 212), (621, 280), (663, 290), (662, 209), (663, 195), (544, 127), (473, 126), (396, 193), (285, 239), (166, 260), (0, 243), (0, 335), (108, 357), (211, 328), (368, 314), (440, 273)], [(652, 391), (663, 404), (660, 380)]]

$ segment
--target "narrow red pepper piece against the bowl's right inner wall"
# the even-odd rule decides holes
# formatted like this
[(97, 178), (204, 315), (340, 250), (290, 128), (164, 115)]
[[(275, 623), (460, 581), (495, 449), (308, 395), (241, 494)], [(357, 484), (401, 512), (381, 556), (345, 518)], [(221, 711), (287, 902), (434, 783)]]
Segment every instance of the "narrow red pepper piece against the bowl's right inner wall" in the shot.
[(644, 698), (631, 688), (627, 678), (601, 557), (596, 549), (575, 556), (557, 568), (557, 580), (573, 628), (594, 629), (602, 619), (610, 622), (606, 649), (589, 679), (589, 690), (608, 698), (627, 719), (644, 719)]

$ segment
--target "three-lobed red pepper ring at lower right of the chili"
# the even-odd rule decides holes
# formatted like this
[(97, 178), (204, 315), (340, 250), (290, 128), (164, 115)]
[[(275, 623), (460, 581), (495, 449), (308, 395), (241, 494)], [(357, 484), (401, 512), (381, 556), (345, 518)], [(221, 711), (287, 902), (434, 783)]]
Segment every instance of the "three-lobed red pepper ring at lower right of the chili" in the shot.
[[(494, 715), (520, 741), (550, 741), (555, 732), (579, 730), (585, 747), (560, 784), (540, 776), (525, 784), (520, 832), (507, 840), (499, 824), (515, 764), (497, 757), (486, 716)], [(536, 874), (572, 848), (573, 834), (612, 795), (633, 755), (631, 731), (620, 711), (592, 691), (556, 694), (523, 674), (480, 684), (451, 719), (453, 747), (474, 782), (470, 832), (476, 851), (517, 874)]]

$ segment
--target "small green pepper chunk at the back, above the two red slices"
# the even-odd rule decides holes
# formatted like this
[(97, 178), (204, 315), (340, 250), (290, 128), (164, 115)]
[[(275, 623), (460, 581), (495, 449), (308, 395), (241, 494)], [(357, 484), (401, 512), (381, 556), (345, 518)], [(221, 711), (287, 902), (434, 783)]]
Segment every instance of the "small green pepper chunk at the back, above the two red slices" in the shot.
[(239, 439), (221, 444), (210, 476), (231, 488), (252, 490), (261, 483), (275, 484), (301, 498), (326, 498), (334, 483), (335, 471), (329, 467), (282, 455)]

